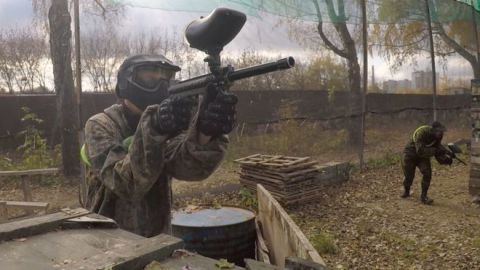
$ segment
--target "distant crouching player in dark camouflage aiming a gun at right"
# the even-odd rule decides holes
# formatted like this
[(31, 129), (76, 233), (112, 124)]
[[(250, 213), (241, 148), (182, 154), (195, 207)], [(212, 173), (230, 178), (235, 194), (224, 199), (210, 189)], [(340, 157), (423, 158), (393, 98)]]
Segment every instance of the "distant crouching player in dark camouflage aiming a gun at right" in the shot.
[(431, 126), (421, 126), (413, 132), (403, 152), (402, 167), (405, 179), (403, 181), (404, 193), (401, 196), (402, 198), (410, 196), (410, 187), (415, 178), (415, 169), (418, 167), (423, 176), (420, 200), (424, 204), (433, 203), (433, 200), (427, 196), (432, 179), (430, 158), (435, 156), (440, 164), (450, 165), (453, 161), (441, 144), (445, 130), (445, 126), (435, 121)]

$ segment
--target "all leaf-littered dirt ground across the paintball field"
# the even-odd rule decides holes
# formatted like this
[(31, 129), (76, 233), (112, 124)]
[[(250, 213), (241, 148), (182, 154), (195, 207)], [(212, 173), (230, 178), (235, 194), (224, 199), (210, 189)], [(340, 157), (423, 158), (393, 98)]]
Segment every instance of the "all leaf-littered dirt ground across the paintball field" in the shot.
[[(468, 167), (434, 166), (432, 206), (419, 203), (419, 174), (412, 197), (401, 199), (402, 172), (395, 158), (386, 154), (400, 151), (408, 135), (396, 134), (400, 133), (369, 134), (366, 152), (372, 161), (366, 172), (355, 172), (350, 181), (326, 188), (316, 203), (287, 211), (333, 269), (480, 269), (480, 208), (470, 203)], [(468, 131), (452, 130), (445, 142), (466, 136)], [(332, 156), (355, 158), (341, 150), (314, 158), (326, 162)], [(175, 206), (243, 205), (236, 170), (238, 166), (230, 160), (205, 181), (174, 181)], [(34, 185), (33, 197), (50, 202), (50, 211), (78, 206), (75, 185), (47, 181)], [(22, 193), (7, 181), (0, 188), (0, 198), (20, 200)]]

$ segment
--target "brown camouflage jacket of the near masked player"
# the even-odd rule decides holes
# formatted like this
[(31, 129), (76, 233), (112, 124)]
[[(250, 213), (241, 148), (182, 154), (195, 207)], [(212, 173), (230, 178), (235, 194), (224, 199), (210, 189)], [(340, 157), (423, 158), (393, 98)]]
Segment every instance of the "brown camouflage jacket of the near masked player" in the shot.
[[(146, 237), (170, 233), (171, 179), (207, 178), (224, 157), (228, 138), (200, 145), (190, 130), (172, 139), (159, 135), (148, 107), (136, 130), (129, 127), (125, 108), (113, 105), (85, 124), (85, 207), (114, 219), (120, 228)], [(122, 142), (132, 137), (129, 147)]]

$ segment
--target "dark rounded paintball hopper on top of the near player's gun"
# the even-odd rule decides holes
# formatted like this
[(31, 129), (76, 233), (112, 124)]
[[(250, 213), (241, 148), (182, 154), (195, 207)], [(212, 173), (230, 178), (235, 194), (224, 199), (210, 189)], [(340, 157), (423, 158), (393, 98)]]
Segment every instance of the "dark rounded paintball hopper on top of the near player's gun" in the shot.
[(191, 22), (185, 29), (185, 39), (192, 48), (218, 54), (237, 36), (246, 20), (240, 11), (217, 8), (207, 17)]

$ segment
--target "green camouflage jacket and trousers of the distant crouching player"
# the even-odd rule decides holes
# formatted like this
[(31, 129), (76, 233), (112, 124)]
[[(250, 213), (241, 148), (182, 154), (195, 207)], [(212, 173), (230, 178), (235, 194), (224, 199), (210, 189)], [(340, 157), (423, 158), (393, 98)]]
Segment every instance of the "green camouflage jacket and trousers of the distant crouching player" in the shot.
[(430, 158), (435, 156), (438, 148), (441, 147), (441, 142), (441, 138), (435, 138), (431, 126), (421, 126), (415, 130), (403, 152), (402, 165), (405, 175), (403, 186), (407, 190), (410, 190), (415, 178), (415, 169), (418, 167), (423, 175), (422, 192), (426, 194), (432, 179)]

